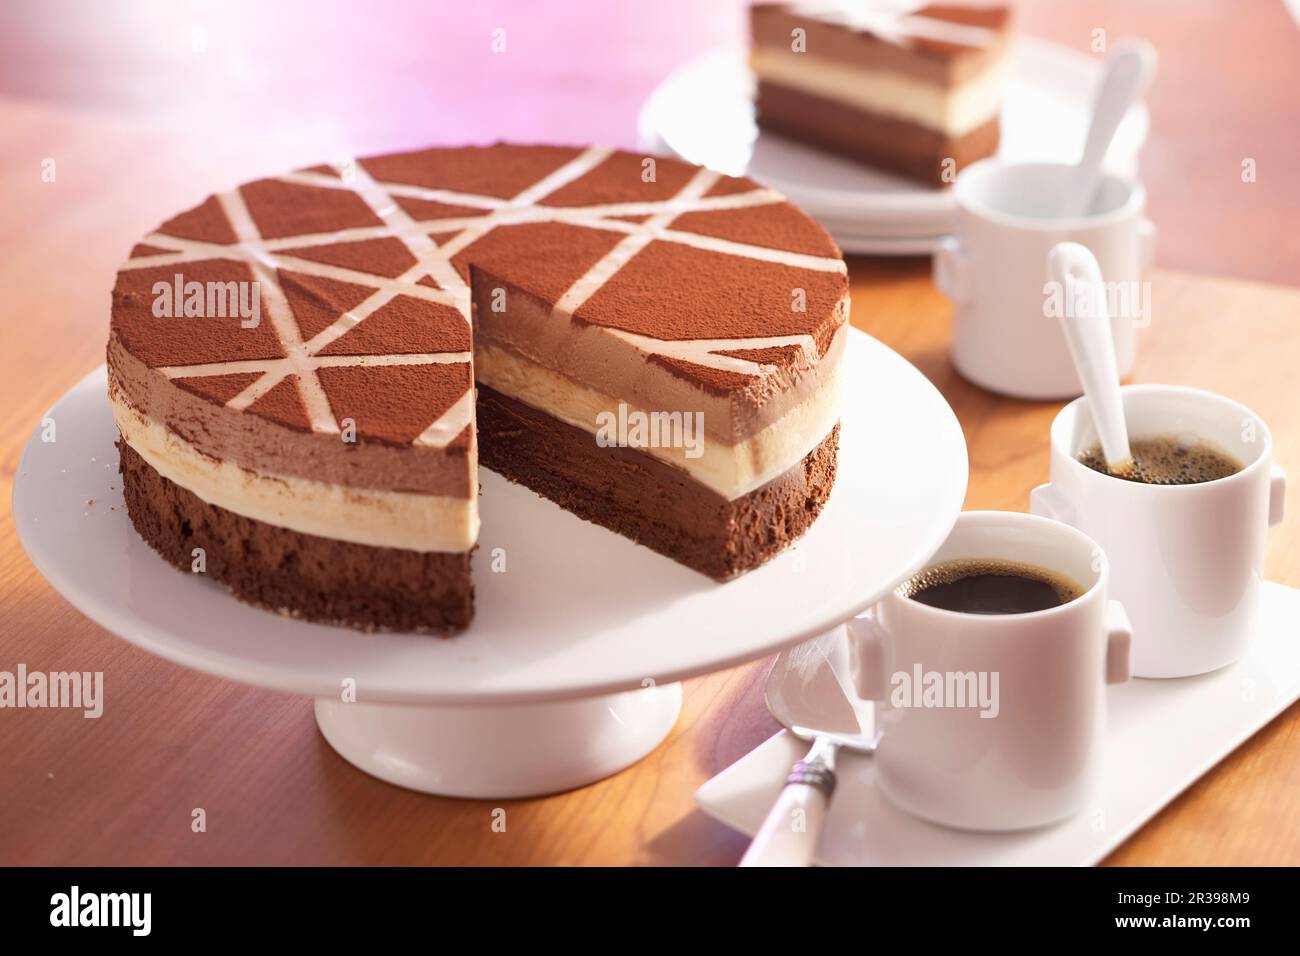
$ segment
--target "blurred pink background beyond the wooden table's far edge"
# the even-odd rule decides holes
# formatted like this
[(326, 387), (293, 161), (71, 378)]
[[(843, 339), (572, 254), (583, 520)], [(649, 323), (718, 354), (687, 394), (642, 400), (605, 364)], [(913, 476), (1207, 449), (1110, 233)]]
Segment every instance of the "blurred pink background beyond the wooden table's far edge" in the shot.
[[(1024, 33), (1075, 49), (1098, 29), (1157, 46), (1143, 177), (1161, 265), (1297, 281), (1300, 31), (1282, 0), (1015, 7)], [(142, 164), (142, 181), (103, 183), (131, 190), (122, 225), (135, 234), (212, 190), (322, 159), (498, 138), (633, 146), (659, 79), (745, 36), (744, 0), (5, 0), (0, 130), (22, 135), (0, 135), (0, 159), (39, 163), (57, 146), (61, 170), (88, 182), (105, 150), (165, 151), (174, 178), (144, 181)], [(51, 109), (68, 111), (57, 130)], [(1254, 183), (1242, 183), (1244, 157)]]

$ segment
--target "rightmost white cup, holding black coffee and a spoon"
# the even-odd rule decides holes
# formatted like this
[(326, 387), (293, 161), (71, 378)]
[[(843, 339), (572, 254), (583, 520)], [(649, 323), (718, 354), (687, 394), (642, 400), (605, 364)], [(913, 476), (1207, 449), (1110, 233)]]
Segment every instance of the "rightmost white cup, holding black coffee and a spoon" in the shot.
[(1244, 405), (1175, 385), (1121, 389), (1130, 438), (1206, 438), (1245, 467), (1195, 485), (1147, 485), (1076, 459), (1096, 445), (1083, 399), (1052, 423), (1050, 484), (1031, 510), (1079, 528), (1110, 559), (1112, 589), (1134, 622), (1134, 674), (1182, 678), (1245, 650), (1264, 580), (1269, 525), (1282, 520), (1286, 473), (1268, 425)]

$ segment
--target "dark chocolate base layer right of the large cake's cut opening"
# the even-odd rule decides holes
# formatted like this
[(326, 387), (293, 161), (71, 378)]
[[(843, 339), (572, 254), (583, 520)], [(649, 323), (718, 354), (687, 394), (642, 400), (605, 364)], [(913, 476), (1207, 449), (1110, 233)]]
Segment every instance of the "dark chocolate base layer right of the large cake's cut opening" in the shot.
[(835, 484), (840, 427), (780, 477), (729, 501), (685, 472), (478, 385), (478, 460), (578, 518), (727, 580), (816, 519)]

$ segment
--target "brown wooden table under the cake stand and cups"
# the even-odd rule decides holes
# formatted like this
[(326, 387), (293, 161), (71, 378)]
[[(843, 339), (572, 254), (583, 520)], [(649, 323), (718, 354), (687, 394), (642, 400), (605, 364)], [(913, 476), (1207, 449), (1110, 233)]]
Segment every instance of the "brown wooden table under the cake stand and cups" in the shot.
[[(950, 308), (926, 260), (852, 264), (854, 323), (914, 362), (944, 393), (970, 445), (968, 509), (1026, 507), (1046, 473), (1057, 403), (997, 398), (948, 360)], [(4, 267), (5, 286), (14, 272)], [(48, 277), (47, 277), (48, 278)], [(32, 308), (44, 294), (26, 286)], [(99, 297), (103, 298), (103, 297)], [(1300, 291), (1161, 273), (1135, 381), (1196, 384), (1256, 408), (1278, 460), (1300, 475)], [(42, 410), (96, 360), (95, 321), (12, 329), (68, 352), (4, 381), (4, 498)], [(880, 414), (896, 414), (881, 408)], [(864, 538), (863, 546), (870, 546)], [(1300, 585), (1300, 519), (1271, 535), (1268, 575)], [(422, 796), (348, 766), (317, 734), (311, 701), (186, 671), (72, 610), (0, 523), (0, 667), (103, 670), (105, 711), (0, 711), (3, 864), (732, 864), (744, 839), (705, 818), (692, 793), (776, 726), (762, 704), (766, 662), (686, 682), (672, 736), (595, 786), (498, 804)], [(1300, 628), (1297, 628), (1300, 630)], [(472, 637), (467, 637), (469, 640)], [(1300, 706), (1208, 774), (1113, 857), (1121, 864), (1300, 862)], [(191, 812), (208, 830), (190, 830)]]

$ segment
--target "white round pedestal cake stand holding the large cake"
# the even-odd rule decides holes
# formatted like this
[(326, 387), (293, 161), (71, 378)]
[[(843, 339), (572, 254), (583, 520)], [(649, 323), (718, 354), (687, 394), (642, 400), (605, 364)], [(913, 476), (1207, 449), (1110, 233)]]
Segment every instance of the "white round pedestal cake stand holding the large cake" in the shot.
[(49, 411), (53, 442), (48, 428), (27, 442), (14, 520), (92, 620), (176, 663), (311, 695), (360, 769), (451, 796), (549, 793), (653, 750), (677, 719), (676, 682), (828, 631), (946, 537), (966, 494), (952, 410), (859, 332), (846, 363), (838, 477), (796, 548), (716, 584), (485, 472), (477, 617), (452, 640), (294, 620), (165, 564), (126, 515), (103, 368)]

